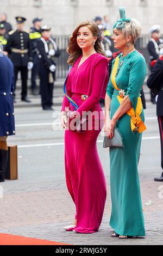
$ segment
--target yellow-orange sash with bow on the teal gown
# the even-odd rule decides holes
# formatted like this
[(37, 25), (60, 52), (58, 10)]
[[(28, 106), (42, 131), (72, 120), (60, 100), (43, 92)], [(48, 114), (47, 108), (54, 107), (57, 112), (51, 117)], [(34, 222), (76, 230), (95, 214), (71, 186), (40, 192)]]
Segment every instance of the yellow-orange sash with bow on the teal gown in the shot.
[[(112, 82), (114, 88), (116, 90), (120, 91), (120, 89), (117, 87), (117, 84), (116, 84), (116, 81), (115, 81), (115, 76), (116, 76), (116, 73), (117, 73), (119, 60), (120, 60), (119, 57), (117, 57), (115, 59), (115, 63), (114, 63), (113, 69), (112, 69), (111, 82)], [(121, 102), (123, 101), (123, 98), (117, 95), (117, 99), (121, 104)], [(141, 132), (143, 132), (147, 129), (147, 127), (145, 126), (145, 124), (143, 123), (143, 121), (140, 117), (141, 113), (142, 113), (142, 101), (141, 101), (141, 97), (138, 97), (137, 98), (136, 111), (134, 110), (133, 107), (131, 107), (129, 109), (129, 111), (127, 112), (127, 114), (131, 117), (130, 124), (131, 124), (131, 131), (132, 132), (133, 131), (135, 131), (135, 132), (139, 131), (139, 133), (141, 133)]]

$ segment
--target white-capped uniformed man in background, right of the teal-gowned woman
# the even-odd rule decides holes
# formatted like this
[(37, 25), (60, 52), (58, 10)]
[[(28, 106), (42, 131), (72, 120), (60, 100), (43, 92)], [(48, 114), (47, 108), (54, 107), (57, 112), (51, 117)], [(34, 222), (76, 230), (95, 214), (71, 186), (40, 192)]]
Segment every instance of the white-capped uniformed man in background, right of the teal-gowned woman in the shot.
[[(151, 39), (148, 42), (148, 52), (150, 55), (150, 60), (158, 59), (163, 54), (163, 40), (160, 38), (160, 25), (153, 25), (149, 29), (149, 33), (151, 34)], [(149, 69), (152, 71), (151, 62), (149, 64)], [(154, 92), (151, 90), (151, 102), (155, 102)]]

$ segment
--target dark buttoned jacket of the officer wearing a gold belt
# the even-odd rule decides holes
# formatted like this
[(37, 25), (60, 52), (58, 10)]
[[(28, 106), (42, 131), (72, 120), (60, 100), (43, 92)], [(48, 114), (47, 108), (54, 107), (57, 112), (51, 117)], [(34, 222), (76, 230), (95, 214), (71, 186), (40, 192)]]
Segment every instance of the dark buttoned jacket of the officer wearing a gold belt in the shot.
[[(18, 50), (28, 50), (28, 53), (15, 53), (12, 48)], [(29, 39), (29, 33), (26, 31), (10, 31), (9, 39), (5, 51), (10, 54), (10, 59), (14, 66), (27, 66), (32, 61), (32, 45)]]

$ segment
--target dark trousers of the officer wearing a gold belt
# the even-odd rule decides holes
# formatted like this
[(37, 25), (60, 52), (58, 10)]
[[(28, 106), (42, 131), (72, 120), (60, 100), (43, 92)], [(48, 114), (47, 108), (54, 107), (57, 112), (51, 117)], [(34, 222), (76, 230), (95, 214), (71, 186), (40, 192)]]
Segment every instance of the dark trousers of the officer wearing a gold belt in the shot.
[(15, 75), (15, 89), (16, 89), (16, 81), (18, 72), (21, 72), (21, 80), (22, 80), (22, 99), (27, 96), (27, 79), (28, 79), (28, 69), (27, 66), (14, 66), (14, 75)]

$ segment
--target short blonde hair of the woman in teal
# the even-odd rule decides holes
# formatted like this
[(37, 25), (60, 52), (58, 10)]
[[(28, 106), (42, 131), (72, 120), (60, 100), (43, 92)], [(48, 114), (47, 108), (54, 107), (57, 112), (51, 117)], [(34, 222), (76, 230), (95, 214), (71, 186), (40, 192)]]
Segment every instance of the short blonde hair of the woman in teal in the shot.
[(126, 22), (124, 28), (122, 29), (122, 34), (124, 35), (124, 37), (130, 35), (131, 44), (134, 45), (141, 34), (141, 26), (139, 21), (132, 18), (130, 22)]

